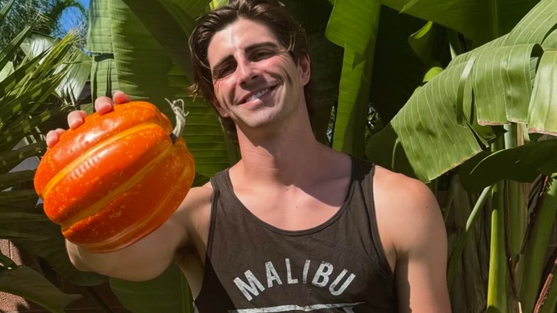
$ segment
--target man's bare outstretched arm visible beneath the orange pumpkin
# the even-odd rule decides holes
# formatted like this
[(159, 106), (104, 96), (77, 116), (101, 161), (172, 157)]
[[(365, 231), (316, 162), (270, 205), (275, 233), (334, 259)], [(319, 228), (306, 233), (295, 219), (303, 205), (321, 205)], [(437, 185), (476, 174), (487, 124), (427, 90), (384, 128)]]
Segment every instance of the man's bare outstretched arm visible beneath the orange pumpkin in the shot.
[(179, 249), (191, 249), (194, 254), (204, 255), (212, 192), (209, 184), (190, 189), (179, 209), (159, 229), (119, 251), (91, 253), (66, 242), (71, 262), (84, 271), (141, 281), (164, 272)]

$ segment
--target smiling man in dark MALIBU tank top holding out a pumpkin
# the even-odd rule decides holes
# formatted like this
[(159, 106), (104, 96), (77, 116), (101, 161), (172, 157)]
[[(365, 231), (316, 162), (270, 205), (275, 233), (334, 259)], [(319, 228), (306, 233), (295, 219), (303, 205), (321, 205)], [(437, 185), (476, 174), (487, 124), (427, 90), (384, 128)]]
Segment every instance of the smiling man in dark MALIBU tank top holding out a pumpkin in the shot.
[[(75, 266), (144, 280), (176, 262), (200, 312), (450, 312), (436, 199), (421, 182), (316, 141), (306, 37), (278, 1), (217, 9), (190, 45), (193, 90), (232, 126), (241, 161), (130, 247), (94, 254), (68, 242)], [(112, 106), (95, 103), (101, 113)], [(69, 126), (84, 116), (72, 112)], [(62, 131), (47, 134), (49, 146)]]

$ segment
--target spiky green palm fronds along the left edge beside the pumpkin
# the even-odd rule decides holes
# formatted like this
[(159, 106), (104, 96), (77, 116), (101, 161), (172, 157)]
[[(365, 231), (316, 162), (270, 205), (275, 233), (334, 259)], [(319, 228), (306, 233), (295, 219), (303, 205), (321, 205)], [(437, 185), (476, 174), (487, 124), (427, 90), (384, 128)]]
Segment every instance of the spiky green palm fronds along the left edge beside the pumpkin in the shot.
[[(0, 11), (0, 25), (4, 23), (12, 0)], [(58, 227), (46, 219), (33, 189), (34, 170), (19, 169), (19, 164), (39, 156), (46, 144), (39, 137), (39, 128), (51, 117), (65, 115), (69, 109), (53, 96), (71, 95), (76, 99), (83, 89), (85, 79), (74, 64), (81, 51), (74, 49), (76, 36), (69, 34), (58, 42), (45, 36), (31, 34), (30, 24), (0, 51), (0, 239), (10, 239), (26, 249), (37, 260), (46, 262), (68, 277), (84, 285), (100, 284), (105, 280), (98, 274), (77, 271), (64, 253), (64, 239)], [(15, 59), (20, 49), (27, 57)], [(81, 70), (83, 70), (81, 68)], [(69, 74), (74, 74), (68, 79)], [(51, 102), (56, 101), (56, 102)], [(62, 114), (64, 113), (64, 114)], [(37, 267), (40, 271), (40, 267)], [(64, 294), (40, 272), (20, 266), (0, 253), (0, 291), (17, 294), (51, 312), (63, 312), (77, 294)]]

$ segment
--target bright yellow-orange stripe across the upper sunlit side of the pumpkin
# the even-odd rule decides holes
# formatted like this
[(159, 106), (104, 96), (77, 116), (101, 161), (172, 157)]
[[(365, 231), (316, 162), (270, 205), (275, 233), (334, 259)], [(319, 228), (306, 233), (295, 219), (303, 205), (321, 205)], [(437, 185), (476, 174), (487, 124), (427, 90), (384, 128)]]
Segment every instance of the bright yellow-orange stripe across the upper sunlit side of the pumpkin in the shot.
[(129, 136), (130, 134), (134, 134), (137, 131), (141, 131), (142, 129), (146, 129), (146, 128), (149, 128), (149, 127), (152, 127), (152, 126), (159, 126), (159, 124), (154, 124), (152, 121), (141, 123), (139, 125), (133, 126), (129, 129), (126, 129), (125, 131), (121, 131), (119, 133), (116, 133), (113, 136), (107, 138), (106, 140), (101, 141), (94, 146), (91, 146), (91, 148), (89, 148), (87, 151), (84, 151), (84, 153), (81, 154), (81, 156), (78, 156), (76, 159), (69, 162), (69, 164), (67, 164), (63, 169), (61, 169), (58, 173), (56, 173), (53, 177), (51, 177), (49, 182), (41, 190), (40, 196), (43, 199), (46, 198), (48, 196), (49, 192), (51, 191), (51, 189), (54, 186), (56, 186), (56, 184), (58, 184), (58, 182), (62, 178), (66, 177), (67, 174), (69, 174), (73, 169), (75, 169), (77, 164), (81, 164), (86, 159), (89, 159), (91, 154), (94, 154), (99, 149), (104, 149), (105, 146), (109, 146), (114, 141), (117, 141), (118, 139), (121, 139), (121, 137), (123, 137), (123, 136)]

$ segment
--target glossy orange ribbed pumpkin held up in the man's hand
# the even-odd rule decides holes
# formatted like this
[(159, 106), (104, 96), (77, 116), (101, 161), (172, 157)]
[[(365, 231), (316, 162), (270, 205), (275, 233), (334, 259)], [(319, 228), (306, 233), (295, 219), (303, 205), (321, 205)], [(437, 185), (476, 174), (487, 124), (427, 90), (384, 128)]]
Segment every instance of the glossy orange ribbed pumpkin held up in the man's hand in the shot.
[(133, 101), (65, 131), (44, 154), (34, 185), (66, 239), (111, 252), (160, 227), (186, 197), (194, 173), (169, 119), (153, 104)]

